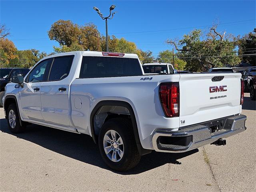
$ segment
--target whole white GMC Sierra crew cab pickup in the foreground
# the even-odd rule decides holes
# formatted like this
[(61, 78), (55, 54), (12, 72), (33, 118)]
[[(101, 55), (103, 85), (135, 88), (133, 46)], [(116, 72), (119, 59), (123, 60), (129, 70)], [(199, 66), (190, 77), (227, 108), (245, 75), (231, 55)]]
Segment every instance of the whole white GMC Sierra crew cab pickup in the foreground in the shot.
[(224, 145), (246, 129), (240, 73), (145, 75), (136, 54), (77, 51), (40, 60), (4, 95), (10, 131), (28, 123), (92, 136), (125, 171), (140, 156)]

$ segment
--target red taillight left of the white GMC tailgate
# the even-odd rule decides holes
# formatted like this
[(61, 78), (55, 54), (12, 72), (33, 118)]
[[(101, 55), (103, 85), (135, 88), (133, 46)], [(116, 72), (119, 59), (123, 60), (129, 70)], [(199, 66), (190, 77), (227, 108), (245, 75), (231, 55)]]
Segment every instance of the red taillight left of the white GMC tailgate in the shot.
[(178, 82), (161, 83), (159, 98), (166, 117), (180, 115), (180, 87)]

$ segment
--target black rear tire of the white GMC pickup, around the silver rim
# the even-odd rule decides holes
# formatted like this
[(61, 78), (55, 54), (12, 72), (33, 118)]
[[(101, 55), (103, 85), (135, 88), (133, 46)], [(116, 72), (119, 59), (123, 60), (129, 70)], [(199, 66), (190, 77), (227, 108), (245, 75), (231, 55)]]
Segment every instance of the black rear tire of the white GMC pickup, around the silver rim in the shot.
[[(116, 131), (122, 138), (124, 153), (118, 162), (110, 160), (104, 150), (104, 136), (109, 130)], [(106, 121), (100, 130), (98, 145), (104, 162), (113, 170), (127, 171), (140, 162), (140, 154), (134, 138), (132, 122), (129, 119), (114, 118)]]

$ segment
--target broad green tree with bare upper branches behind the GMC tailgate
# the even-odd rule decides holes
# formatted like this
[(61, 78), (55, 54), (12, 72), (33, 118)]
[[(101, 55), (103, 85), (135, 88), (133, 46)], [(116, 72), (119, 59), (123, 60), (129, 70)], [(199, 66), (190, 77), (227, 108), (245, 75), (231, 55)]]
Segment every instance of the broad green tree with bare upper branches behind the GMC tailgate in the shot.
[(221, 34), (216, 28), (212, 27), (206, 36), (201, 30), (193, 30), (180, 40), (168, 39), (166, 42), (175, 47), (178, 58), (186, 61), (186, 69), (190, 71), (200, 72), (212, 67), (239, 64), (241, 60), (234, 50), (234, 37), (225, 36), (226, 32)]

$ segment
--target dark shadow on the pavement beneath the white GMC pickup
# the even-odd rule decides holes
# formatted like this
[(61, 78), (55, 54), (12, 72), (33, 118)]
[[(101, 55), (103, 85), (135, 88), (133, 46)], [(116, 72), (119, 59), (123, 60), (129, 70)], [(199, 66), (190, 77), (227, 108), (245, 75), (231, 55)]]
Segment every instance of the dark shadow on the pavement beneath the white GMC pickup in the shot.
[(123, 175), (139, 174), (167, 163), (179, 165), (181, 162), (178, 159), (198, 152), (198, 149), (185, 153), (160, 153), (153, 151), (151, 154), (142, 156), (140, 163), (134, 169), (128, 172), (116, 172), (106, 166), (100, 156), (98, 146), (88, 135), (75, 134), (39, 125), (27, 126), (26, 132), (13, 134), (8, 129), (6, 119), (4, 118), (0, 119), (0, 130), (64, 156)]

